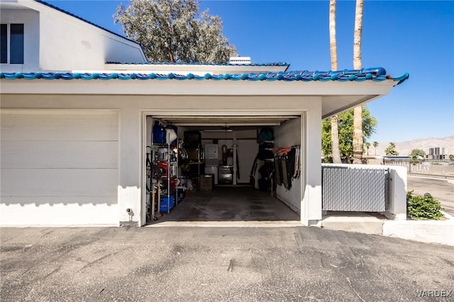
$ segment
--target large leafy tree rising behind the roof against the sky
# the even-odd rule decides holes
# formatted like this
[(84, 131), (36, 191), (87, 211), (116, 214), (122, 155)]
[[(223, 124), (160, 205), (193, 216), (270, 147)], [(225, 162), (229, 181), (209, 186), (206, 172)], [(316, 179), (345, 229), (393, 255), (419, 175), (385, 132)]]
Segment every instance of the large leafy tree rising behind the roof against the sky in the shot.
[(225, 63), (237, 55), (221, 18), (199, 13), (198, 0), (131, 0), (118, 6), (114, 21), (152, 62)]

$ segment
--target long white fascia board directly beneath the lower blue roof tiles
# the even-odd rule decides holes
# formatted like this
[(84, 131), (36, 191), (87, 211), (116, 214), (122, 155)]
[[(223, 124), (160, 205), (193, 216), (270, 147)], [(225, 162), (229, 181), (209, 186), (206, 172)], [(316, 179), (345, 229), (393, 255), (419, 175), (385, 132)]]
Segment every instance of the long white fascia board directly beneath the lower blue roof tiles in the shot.
[(382, 82), (0, 79), (0, 84), (2, 94), (383, 96), (389, 93), (395, 82), (391, 79)]

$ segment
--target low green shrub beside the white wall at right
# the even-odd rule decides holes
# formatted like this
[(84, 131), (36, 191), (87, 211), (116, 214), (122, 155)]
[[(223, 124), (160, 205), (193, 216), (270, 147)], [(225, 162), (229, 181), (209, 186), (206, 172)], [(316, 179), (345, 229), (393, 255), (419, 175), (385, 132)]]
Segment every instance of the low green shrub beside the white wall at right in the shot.
[(439, 220), (443, 217), (440, 201), (431, 194), (414, 196), (413, 191), (406, 193), (406, 213), (409, 217), (420, 220)]

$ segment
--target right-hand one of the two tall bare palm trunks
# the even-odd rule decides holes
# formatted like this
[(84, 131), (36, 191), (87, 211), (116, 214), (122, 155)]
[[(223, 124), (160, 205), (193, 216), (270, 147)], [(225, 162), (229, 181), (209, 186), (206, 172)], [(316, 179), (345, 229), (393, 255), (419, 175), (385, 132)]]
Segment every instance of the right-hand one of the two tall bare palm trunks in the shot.
[[(353, 68), (361, 69), (361, 34), (362, 8), (364, 0), (356, 0), (355, 33), (353, 38)], [(362, 106), (356, 106), (353, 111), (353, 164), (362, 164)]]

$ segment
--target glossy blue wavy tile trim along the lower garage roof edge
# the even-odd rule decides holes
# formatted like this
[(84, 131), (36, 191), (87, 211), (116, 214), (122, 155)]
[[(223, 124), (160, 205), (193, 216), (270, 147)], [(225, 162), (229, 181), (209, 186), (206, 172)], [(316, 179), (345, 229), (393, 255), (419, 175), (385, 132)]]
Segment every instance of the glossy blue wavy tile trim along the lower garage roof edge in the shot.
[(394, 82), (401, 84), (409, 78), (409, 74), (406, 73), (401, 77), (390, 77), (386, 74), (386, 70), (381, 67), (377, 68), (365, 68), (365, 69), (345, 69), (341, 71), (329, 71), (329, 72), (309, 72), (309, 71), (295, 71), (295, 72), (267, 72), (267, 73), (249, 73), (249, 74), (205, 74), (199, 76), (196, 74), (123, 74), (123, 73), (58, 73), (58, 72), (0, 72), (0, 79), (176, 79), (176, 80), (247, 80), (247, 81), (284, 81), (284, 82), (327, 82), (327, 81), (338, 81), (338, 82), (363, 82), (371, 80), (374, 82), (382, 82), (387, 79), (392, 79)]

